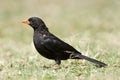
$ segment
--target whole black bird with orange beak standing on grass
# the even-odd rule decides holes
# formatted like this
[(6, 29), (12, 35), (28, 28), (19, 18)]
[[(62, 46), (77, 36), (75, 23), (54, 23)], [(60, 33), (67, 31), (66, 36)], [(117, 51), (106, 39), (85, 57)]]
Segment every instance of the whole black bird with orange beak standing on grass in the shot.
[(83, 55), (74, 47), (56, 37), (48, 30), (41, 18), (30, 17), (23, 20), (22, 23), (33, 28), (33, 43), (37, 52), (47, 59), (54, 60), (56, 66), (59, 66), (62, 60), (67, 59), (87, 60), (99, 67), (107, 66), (104, 62)]

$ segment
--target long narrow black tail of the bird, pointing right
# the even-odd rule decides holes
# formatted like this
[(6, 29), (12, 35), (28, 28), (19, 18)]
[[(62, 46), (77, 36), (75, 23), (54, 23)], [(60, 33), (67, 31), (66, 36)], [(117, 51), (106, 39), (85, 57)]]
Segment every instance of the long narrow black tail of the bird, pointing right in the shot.
[[(74, 58), (75, 58), (75, 56), (74, 56)], [(101, 62), (101, 61), (92, 59), (92, 58), (87, 57), (87, 56), (84, 56), (84, 55), (77, 55), (77, 56), (76, 56), (76, 59), (78, 59), (78, 58), (79, 58), (79, 59), (85, 59), (85, 60), (87, 60), (87, 61), (90, 61), (90, 62), (92, 62), (92, 63), (95, 63), (95, 64), (97, 64), (99, 67), (105, 67), (105, 66), (107, 66), (107, 64), (105, 64), (105, 63), (103, 63), (103, 62)]]

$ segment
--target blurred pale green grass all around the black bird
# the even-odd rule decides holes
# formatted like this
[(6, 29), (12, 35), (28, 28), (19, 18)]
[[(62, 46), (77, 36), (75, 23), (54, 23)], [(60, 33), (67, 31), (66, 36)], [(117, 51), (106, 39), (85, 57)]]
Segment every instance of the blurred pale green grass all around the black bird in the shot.
[[(119, 0), (3, 0), (0, 3), (0, 80), (120, 80)], [(41, 17), (49, 30), (84, 55), (108, 64), (98, 68), (81, 60), (55, 63), (40, 56), (33, 30), (21, 23)]]

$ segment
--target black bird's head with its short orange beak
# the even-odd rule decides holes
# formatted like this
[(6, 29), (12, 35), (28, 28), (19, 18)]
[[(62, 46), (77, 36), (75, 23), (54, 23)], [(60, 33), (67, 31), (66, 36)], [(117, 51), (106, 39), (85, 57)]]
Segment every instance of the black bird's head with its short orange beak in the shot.
[(31, 17), (28, 20), (23, 20), (23, 23), (30, 25), (33, 29), (46, 27), (42, 19), (38, 17)]

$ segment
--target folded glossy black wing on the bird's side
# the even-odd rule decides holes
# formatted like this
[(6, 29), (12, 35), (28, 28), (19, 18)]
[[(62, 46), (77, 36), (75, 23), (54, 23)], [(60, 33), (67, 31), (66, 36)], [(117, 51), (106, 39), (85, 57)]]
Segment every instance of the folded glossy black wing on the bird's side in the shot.
[(65, 43), (64, 41), (60, 40), (59, 38), (52, 34), (45, 39), (44, 46), (52, 52), (71, 53), (77, 51), (71, 45)]

